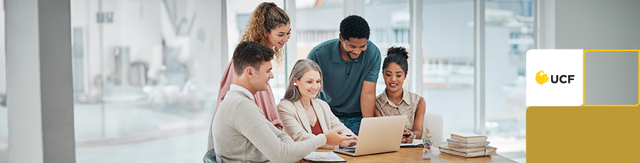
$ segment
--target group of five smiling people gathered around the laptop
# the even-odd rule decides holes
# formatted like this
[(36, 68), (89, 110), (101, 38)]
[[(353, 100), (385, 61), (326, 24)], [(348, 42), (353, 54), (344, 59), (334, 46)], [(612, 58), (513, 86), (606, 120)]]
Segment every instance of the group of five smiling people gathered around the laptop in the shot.
[(279, 64), (284, 57), (290, 23), (274, 3), (260, 4), (250, 16), (213, 113), (208, 148), (215, 148), (218, 162), (297, 162), (319, 147), (350, 147), (361, 119), (374, 116), (407, 116), (402, 142), (430, 137), (422, 128), (425, 100), (402, 88), (409, 57), (404, 47), (387, 50), (381, 64), (386, 89), (375, 96), (382, 59), (360, 16), (344, 18), (339, 38), (294, 64), (276, 105), (268, 81), (272, 60)]

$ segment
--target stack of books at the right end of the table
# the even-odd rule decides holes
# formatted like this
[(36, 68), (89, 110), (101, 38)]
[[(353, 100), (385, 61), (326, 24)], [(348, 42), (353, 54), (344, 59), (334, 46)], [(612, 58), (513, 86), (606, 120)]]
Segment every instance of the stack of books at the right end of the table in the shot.
[(496, 147), (489, 146), (486, 135), (473, 133), (451, 134), (447, 145), (439, 147), (440, 152), (462, 157), (481, 157), (496, 154)]

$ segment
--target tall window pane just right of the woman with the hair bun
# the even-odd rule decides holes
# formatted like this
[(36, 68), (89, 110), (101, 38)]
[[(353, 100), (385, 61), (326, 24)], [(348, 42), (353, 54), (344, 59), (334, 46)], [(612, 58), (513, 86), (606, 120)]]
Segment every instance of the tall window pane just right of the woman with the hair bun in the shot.
[(423, 97), (449, 133), (474, 132), (474, 1), (424, 1)]

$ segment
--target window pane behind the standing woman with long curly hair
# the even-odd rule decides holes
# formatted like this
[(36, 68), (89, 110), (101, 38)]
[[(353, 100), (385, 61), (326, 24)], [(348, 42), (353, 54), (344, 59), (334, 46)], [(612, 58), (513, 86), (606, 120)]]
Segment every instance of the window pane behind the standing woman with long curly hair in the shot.
[[(279, 8), (284, 9), (284, 0), (271, 1), (275, 3)], [(235, 46), (240, 43), (242, 33), (247, 27), (247, 21), (253, 13), (253, 10), (262, 3), (257, 0), (240, 0), (240, 1), (227, 1), (227, 30), (228, 30), (228, 42), (229, 42), (229, 60), (233, 56), (233, 50)], [(293, 30), (292, 30), (293, 31)], [(294, 37), (292, 33), (291, 37)], [(285, 47), (287, 45), (284, 45)], [(284, 76), (284, 60), (282, 62), (272, 62), (273, 76), (274, 78), (269, 81), (273, 96), (276, 101), (279, 101), (284, 97), (285, 81)], [(222, 76), (220, 76), (222, 77)], [(276, 102), (277, 103), (277, 102)]]

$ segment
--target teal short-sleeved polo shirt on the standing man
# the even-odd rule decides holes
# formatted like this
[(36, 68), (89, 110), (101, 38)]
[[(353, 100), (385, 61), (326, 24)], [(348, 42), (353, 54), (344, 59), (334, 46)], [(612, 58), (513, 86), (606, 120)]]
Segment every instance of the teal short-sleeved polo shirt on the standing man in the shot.
[(344, 61), (338, 38), (320, 43), (306, 57), (322, 69), (324, 89), (319, 98), (329, 103), (340, 119), (362, 118), (360, 93), (363, 81), (378, 81), (382, 57), (380, 49), (367, 40), (367, 49), (356, 60)]

